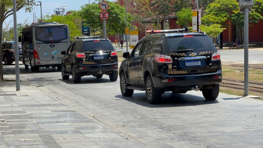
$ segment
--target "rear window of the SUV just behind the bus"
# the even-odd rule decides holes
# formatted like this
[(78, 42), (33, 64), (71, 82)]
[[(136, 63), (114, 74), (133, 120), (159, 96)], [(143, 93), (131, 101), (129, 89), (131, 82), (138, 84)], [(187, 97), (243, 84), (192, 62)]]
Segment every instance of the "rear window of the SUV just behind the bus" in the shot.
[(112, 43), (110, 43), (109, 40), (94, 40), (94, 41), (88, 41), (83, 42), (83, 49), (84, 51), (89, 50), (115, 50)]

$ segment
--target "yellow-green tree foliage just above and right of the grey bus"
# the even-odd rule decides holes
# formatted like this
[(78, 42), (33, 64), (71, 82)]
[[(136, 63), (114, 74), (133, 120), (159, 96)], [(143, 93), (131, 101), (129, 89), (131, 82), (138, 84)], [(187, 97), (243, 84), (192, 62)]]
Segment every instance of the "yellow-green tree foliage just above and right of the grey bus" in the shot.
[[(44, 17), (44, 21), (48, 22), (57, 22), (59, 24), (63, 24), (63, 16), (51, 16), (50, 19), (47, 19), (47, 17)], [(81, 36), (81, 17), (79, 16), (78, 12), (74, 12), (72, 14), (69, 14), (65, 16), (65, 24), (68, 24), (69, 26), (69, 35), (70, 40), (74, 40), (74, 37)]]

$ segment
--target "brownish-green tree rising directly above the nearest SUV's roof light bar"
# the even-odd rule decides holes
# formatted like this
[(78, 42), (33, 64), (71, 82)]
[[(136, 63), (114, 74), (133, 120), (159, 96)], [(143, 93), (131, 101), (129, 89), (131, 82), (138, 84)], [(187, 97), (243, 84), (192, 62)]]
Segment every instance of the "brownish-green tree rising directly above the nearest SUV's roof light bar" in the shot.
[(150, 3), (150, 6), (153, 7), (153, 19), (157, 22), (157, 30), (159, 30), (161, 20), (168, 18), (169, 14), (173, 12), (171, 3), (171, 0), (153, 0)]

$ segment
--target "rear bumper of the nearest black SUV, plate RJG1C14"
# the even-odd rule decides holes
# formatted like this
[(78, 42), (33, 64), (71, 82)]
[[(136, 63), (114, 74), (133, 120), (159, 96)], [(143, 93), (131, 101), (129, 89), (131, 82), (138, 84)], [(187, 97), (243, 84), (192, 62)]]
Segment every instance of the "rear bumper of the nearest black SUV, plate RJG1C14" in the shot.
[[(213, 76), (222, 76), (222, 69), (217, 72), (198, 75), (169, 76), (163, 74), (162, 76), (153, 77), (153, 83), (156, 88), (166, 88), (214, 85), (222, 82), (222, 79), (214, 79)], [(174, 79), (174, 82), (162, 82), (167, 79)]]

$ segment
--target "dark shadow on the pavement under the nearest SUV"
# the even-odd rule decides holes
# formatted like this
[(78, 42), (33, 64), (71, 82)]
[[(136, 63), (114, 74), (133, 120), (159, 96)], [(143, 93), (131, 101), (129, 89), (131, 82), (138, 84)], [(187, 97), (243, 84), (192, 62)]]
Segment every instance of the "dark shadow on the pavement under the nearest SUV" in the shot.
[(115, 97), (150, 108), (196, 106), (218, 103), (217, 100), (206, 101), (203, 97), (191, 94), (172, 94), (171, 92), (165, 92), (165, 94), (162, 95), (162, 99), (159, 104), (149, 104), (146, 100), (145, 93), (134, 93), (132, 97), (124, 97), (120, 94)]

